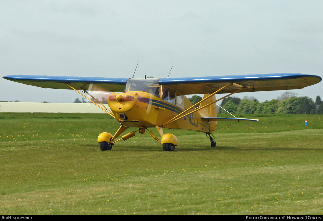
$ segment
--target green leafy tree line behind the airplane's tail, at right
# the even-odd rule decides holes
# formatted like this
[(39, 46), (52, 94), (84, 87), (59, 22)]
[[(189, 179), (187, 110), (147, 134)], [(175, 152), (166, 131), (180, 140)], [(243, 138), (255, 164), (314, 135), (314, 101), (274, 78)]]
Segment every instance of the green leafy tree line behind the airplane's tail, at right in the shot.
[[(194, 95), (189, 98), (194, 105), (202, 97)], [(315, 102), (307, 96), (297, 97), (297, 93), (285, 92), (270, 101), (260, 103), (253, 96), (227, 97), (222, 100), (221, 106), (230, 113), (239, 114), (323, 114), (323, 101), (320, 96)], [(221, 113), (225, 113), (223, 109)]]

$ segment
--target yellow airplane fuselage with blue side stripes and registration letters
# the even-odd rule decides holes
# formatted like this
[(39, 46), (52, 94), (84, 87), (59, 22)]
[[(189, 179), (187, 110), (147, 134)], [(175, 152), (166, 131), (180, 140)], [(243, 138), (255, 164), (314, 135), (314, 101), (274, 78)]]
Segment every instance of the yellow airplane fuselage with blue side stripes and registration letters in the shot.
[[(147, 92), (130, 91), (110, 95), (108, 105), (115, 118), (120, 123), (122, 122), (124, 126), (149, 128), (162, 126), (165, 122), (182, 113), (184, 108), (192, 107), (186, 96), (180, 96), (182, 98), (181, 104), (176, 103), (175, 105), (175, 101), (168, 102)], [(197, 111), (163, 127), (196, 130), (205, 133), (212, 132), (215, 129), (214, 122), (210, 127), (210, 122), (201, 117), (201, 114)]]

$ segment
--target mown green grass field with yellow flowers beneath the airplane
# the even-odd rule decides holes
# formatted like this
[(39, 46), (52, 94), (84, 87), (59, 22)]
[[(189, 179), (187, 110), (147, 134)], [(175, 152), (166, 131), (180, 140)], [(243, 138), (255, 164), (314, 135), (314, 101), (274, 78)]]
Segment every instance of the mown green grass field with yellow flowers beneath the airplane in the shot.
[(148, 133), (101, 151), (108, 115), (0, 113), (0, 214), (322, 215), (323, 116), (237, 117), (260, 121), (222, 122), (215, 148), (168, 130), (174, 152)]

